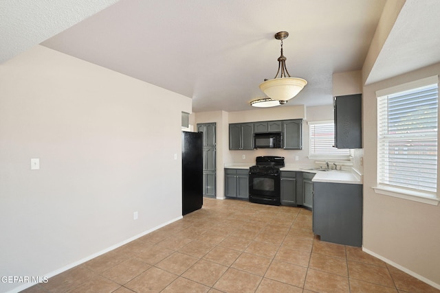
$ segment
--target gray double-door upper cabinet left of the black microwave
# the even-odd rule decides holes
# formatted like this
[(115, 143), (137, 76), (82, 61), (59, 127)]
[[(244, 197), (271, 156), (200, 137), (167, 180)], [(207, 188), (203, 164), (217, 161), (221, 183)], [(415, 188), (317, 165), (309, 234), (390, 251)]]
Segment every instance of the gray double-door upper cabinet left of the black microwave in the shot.
[(254, 150), (254, 123), (229, 124), (229, 149)]

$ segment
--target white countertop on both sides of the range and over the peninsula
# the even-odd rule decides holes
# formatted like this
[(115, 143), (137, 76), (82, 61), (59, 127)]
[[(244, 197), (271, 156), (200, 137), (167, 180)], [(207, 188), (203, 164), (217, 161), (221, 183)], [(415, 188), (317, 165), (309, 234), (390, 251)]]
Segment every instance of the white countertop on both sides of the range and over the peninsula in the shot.
[[(249, 169), (249, 167), (252, 165), (254, 164), (230, 163), (225, 164), (224, 167), (228, 169)], [(290, 164), (281, 168), (281, 171), (315, 173), (316, 175), (312, 179), (313, 182), (362, 184), (362, 174), (353, 168), (344, 170), (319, 171), (310, 170), (312, 167), (314, 166)]]

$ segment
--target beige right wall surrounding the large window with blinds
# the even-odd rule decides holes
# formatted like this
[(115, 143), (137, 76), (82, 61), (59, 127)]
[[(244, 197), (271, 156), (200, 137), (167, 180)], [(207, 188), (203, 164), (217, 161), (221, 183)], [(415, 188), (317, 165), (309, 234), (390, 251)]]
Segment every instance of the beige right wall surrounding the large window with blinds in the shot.
[[(375, 91), (440, 74), (440, 63), (364, 87), (364, 250), (440, 288), (440, 205), (375, 194)], [(437, 184), (437, 186), (440, 186)]]

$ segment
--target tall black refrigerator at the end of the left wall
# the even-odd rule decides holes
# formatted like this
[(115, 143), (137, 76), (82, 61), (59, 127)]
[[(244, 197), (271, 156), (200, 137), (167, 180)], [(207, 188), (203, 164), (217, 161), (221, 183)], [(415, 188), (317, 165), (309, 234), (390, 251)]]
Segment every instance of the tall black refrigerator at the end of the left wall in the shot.
[(181, 132), (181, 213), (203, 205), (203, 133)]

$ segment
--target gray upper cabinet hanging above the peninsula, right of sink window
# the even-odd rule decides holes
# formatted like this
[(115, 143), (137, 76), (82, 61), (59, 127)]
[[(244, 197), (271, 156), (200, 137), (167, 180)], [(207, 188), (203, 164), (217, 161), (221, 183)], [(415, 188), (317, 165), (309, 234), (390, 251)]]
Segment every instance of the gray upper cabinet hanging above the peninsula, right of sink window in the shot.
[(362, 95), (334, 98), (335, 147), (362, 148)]

